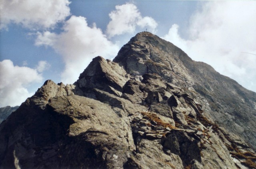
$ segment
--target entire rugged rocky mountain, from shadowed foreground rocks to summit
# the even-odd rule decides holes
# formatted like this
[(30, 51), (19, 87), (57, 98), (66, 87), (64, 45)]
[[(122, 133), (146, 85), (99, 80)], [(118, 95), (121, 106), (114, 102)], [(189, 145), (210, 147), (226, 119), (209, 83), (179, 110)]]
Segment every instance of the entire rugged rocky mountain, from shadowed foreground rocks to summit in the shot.
[(141, 32), (3, 121), (0, 168), (256, 168), (255, 126), (255, 92)]

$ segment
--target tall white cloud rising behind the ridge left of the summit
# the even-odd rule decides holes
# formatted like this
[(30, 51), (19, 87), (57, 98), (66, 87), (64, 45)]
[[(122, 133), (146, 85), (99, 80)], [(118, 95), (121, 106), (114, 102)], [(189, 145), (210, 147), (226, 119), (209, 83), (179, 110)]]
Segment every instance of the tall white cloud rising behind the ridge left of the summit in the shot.
[(50, 46), (62, 55), (65, 62), (62, 73), (64, 83), (74, 83), (92, 58), (98, 55), (112, 58), (119, 50), (96, 24), (88, 26), (86, 18), (82, 16), (71, 16), (63, 29), (60, 34), (38, 32), (35, 44)]

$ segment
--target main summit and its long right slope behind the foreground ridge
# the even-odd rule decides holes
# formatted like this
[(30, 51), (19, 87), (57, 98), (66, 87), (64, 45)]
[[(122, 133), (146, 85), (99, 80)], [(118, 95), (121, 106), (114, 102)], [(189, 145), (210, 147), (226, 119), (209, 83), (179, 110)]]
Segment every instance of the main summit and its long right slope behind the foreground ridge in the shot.
[(179, 86), (203, 106), (208, 118), (256, 148), (255, 92), (148, 32), (133, 37), (113, 61), (137, 78), (156, 73), (163, 81)]

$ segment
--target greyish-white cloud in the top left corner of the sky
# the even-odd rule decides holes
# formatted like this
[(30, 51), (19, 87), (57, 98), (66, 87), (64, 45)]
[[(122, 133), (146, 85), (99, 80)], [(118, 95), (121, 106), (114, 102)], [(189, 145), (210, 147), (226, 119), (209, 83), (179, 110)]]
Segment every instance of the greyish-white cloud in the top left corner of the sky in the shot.
[(10, 23), (25, 28), (52, 28), (70, 15), (69, 0), (0, 0), (0, 28)]

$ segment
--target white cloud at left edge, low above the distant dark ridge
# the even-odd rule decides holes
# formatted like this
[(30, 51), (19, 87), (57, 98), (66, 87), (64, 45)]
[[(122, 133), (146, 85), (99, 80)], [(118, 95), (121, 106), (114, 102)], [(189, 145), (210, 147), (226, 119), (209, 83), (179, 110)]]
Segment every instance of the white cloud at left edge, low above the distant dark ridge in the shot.
[(17, 106), (32, 96), (26, 89), (32, 83), (42, 82), (36, 69), (14, 66), (11, 60), (0, 62), (0, 107)]

